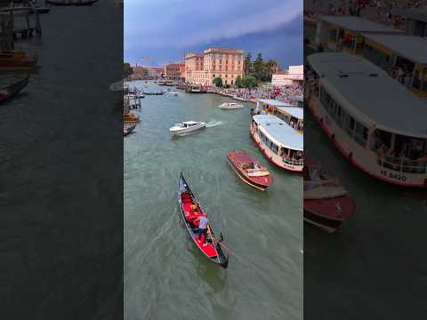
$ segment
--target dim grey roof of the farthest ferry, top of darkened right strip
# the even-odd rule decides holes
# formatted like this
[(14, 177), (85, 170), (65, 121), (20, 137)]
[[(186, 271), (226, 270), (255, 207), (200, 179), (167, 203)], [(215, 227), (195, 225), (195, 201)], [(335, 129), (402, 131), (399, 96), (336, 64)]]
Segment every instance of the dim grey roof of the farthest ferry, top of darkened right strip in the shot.
[(382, 24), (350, 16), (322, 16), (320, 20), (357, 32), (403, 34), (403, 31)]

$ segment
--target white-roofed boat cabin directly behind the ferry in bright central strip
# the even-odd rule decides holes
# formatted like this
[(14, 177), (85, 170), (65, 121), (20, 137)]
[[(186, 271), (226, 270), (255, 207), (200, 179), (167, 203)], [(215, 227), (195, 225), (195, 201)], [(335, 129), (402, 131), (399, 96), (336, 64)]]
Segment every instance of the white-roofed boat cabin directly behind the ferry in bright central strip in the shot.
[(295, 107), (292, 104), (270, 99), (258, 100), (258, 110), (262, 113), (277, 116), (287, 125), (294, 128), (297, 132), (302, 133), (304, 128), (304, 110), (303, 108)]

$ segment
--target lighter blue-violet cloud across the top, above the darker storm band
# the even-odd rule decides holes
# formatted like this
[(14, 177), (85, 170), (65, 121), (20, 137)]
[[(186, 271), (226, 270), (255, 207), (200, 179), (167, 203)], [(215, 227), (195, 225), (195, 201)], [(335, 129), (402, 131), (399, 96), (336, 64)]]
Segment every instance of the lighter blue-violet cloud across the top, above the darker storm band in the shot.
[(125, 51), (207, 44), (278, 28), (301, 13), (301, 0), (126, 0)]

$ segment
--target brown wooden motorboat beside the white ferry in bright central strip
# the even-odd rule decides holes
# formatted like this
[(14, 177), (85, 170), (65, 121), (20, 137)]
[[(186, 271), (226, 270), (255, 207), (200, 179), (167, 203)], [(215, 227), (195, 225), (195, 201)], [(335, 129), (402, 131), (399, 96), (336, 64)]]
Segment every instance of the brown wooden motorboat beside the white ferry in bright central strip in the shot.
[(238, 177), (254, 188), (264, 191), (273, 183), (270, 172), (246, 151), (229, 152), (227, 161)]

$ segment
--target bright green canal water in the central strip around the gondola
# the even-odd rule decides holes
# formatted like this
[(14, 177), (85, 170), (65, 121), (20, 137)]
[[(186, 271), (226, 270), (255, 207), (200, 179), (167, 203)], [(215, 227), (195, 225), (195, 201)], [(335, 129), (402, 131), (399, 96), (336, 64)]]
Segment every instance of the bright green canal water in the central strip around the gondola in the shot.
[[(254, 104), (217, 107), (225, 101), (180, 91), (146, 96), (133, 110), (141, 124), (124, 142), (126, 319), (302, 319), (302, 176), (262, 156), (249, 135)], [(171, 137), (168, 129), (185, 120), (207, 127)], [(238, 179), (226, 162), (233, 149), (269, 168), (270, 189)], [(181, 224), (180, 172), (232, 252), (226, 270), (197, 251)]]

